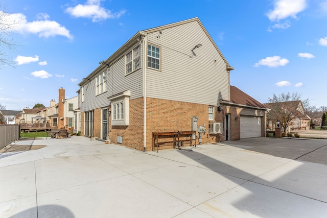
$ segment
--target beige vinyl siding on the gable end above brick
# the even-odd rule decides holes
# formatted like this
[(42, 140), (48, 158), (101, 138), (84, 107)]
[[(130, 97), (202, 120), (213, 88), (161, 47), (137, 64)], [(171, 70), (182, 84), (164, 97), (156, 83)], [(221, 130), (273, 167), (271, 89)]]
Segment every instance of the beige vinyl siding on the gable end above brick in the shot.
[(148, 97), (208, 105), (229, 99), (226, 63), (197, 21), (157, 34), (149, 34), (148, 43), (161, 49), (161, 71), (147, 68)]

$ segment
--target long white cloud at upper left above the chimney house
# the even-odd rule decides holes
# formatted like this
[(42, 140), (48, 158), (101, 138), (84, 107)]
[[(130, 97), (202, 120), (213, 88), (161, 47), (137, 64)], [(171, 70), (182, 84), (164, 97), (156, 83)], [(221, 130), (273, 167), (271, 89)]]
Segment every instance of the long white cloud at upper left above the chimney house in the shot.
[(20, 34), (38, 34), (39, 37), (49, 38), (51, 36), (65, 36), (72, 39), (73, 36), (65, 27), (61, 26), (58, 22), (48, 20), (48, 14), (39, 14), (38, 20), (28, 22), (24, 14), (6, 14), (8, 23), (14, 23), (12, 30)]

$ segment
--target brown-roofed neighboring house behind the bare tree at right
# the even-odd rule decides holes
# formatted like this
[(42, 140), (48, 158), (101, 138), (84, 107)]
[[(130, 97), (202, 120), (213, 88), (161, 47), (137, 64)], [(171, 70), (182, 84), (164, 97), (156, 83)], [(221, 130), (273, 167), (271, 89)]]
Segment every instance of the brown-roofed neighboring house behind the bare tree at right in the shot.
[[(278, 102), (278, 103), (266, 103), (265, 107), (274, 110), (274, 108), (279, 107), (285, 111), (292, 112), (293, 118), (291, 119), (289, 128), (291, 130), (309, 130), (310, 129), (310, 117), (305, 114), (301, 101), (290, 101), (290, 102)], [(286, 113), (287, 114), (287, 113)], [(269, 120), (268, 126), (272, 127), (276, 120)], [(288, 130), (287, 130), (288, 132)]]

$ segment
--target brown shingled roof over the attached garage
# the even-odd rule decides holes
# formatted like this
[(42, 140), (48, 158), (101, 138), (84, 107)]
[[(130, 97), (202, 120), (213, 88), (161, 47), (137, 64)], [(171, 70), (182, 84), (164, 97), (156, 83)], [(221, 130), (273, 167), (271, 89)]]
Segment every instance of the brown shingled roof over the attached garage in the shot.
[(256, 101), (250, 95), (246, 94), (235, 86), (230, 86), (230, 101), (222, 100), (222, 103), (228, 104), (228, 102), (248, 107), (266, 109), (263, 104)]

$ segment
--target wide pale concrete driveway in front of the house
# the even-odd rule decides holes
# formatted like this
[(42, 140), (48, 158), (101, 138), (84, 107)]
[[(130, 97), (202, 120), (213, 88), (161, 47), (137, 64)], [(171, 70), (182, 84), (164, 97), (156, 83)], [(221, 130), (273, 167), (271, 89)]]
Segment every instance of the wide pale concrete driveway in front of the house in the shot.
[(156, 153), (81, 136), (20, 140), (0, 153), (0, 217), (326, 216), (327, 165), (300, 158), (327, 141), (233, 142)]

